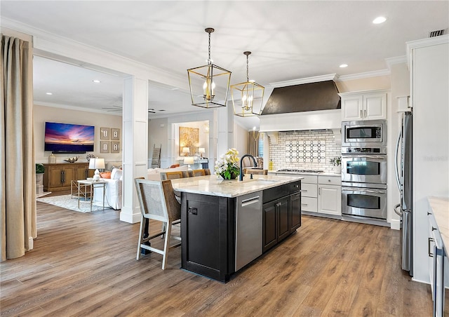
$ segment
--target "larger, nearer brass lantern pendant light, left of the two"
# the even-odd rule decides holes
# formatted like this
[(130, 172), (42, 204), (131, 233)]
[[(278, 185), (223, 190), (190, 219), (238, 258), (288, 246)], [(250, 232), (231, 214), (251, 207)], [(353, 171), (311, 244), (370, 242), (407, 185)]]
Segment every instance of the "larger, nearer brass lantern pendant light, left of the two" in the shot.
[(213, 65), (210, 59), (210, 33), (215, 30), (208, 27), (204, 31), (209, 34), (208, 64), (187, 69), (192, 105), (203, 108), (226, 107), (231, 72)]

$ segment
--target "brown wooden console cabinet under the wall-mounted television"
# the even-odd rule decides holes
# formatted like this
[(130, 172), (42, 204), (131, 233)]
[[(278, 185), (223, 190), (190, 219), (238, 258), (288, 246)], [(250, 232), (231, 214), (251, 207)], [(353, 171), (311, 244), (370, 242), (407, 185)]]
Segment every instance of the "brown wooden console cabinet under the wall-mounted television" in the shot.
[(44, 191), (62, 191), (70, 189), (72, 180), (86, 180), (93, 177), (94, 170), (89, 170), (89, 163), (54, 163), (43, 164), (45, 174), (43, 175)]

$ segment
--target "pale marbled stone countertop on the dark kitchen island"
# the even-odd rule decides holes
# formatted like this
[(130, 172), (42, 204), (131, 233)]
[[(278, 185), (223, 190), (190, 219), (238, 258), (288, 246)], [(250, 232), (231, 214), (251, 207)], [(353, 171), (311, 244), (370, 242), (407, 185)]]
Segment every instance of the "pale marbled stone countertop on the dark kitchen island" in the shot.
[(173, 189), (192, 194), (205, 194), (210, 196), (237, 197), (255, 191), (288, 184), (303, 177), (295, 175), (250, 175), (243, 177), (243, 182), (236, 180), (223, 180), (217, 175), (196, 176), (171, 180)]

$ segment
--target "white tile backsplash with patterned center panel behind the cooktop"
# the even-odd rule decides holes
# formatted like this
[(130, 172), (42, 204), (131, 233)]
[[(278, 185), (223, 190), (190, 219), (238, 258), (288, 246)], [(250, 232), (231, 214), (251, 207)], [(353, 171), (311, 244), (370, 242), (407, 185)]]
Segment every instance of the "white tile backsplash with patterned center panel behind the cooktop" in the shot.
[(332, 130), (283, 131), (278, 143), (269, 144), (273, 170), (324, 170), (332, 173), (331, 158), (342, 155), (340, 142), (335, 142)]

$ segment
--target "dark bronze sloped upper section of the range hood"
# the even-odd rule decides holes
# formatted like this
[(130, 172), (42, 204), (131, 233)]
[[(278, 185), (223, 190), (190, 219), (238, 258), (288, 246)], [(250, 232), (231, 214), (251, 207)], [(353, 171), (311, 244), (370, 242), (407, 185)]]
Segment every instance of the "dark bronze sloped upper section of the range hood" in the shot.
[(262, 116), (330, 109), (341, 109), (338, 89), (332, 80), (274, 88)]

